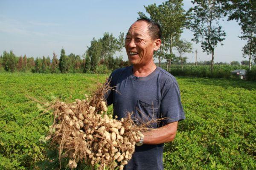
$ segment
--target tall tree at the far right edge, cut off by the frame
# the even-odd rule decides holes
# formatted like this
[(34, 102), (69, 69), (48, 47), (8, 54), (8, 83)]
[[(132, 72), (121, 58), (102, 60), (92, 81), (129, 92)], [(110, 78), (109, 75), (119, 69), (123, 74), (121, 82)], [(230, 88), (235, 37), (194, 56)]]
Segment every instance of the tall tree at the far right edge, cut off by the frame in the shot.
[(256, 1), (255, 0), (218, 0), (226, 11), (228, 20), (236, 20), (242, 29), (244, 45), (243, 57), (249, 56), (249, 70), (251, 61), (256, 60)]

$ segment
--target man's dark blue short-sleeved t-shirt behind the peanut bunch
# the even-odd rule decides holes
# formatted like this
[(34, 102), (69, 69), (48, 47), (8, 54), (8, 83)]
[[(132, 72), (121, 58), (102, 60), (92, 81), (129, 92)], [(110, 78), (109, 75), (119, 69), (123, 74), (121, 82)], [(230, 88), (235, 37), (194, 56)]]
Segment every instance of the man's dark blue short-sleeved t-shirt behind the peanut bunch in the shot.
[[(109, 80), (115, 90), (105, 98), (108, 105), (113, 104), (113, 117), (121, 119), (133, 112), (136, 123), (165, 118), (153, 128), (185, 119), (177, 81), (164, 69), (157, 67), (147, 77), (136, 77), (129, 66), (113, 71)], [(163, 170), (163, 144), (136, 146), (125, 170)]]

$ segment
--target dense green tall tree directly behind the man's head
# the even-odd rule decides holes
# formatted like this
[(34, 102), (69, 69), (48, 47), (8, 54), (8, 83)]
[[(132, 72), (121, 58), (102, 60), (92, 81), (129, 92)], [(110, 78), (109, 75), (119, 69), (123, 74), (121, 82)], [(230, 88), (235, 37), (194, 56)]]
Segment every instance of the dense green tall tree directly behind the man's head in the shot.
[[(161, 48), (162, 50), (166, 50), (166, 52), (170, 50), (171, 55), (163, 55), (163, 51), (160, 48), (160, 53), (157, 57), (159, 63), (163, 56), (168, 57), (165, 59), (167, 60), (169, 71), (173, 57), (172, 48), (176, 46), (175, 43), (185, 27), (186, 14), (182, 6), (182, 0), (168, 0), (159, 6), (156, 6), (155, 3), (147, 7), (144, 6), (150, 18), (159, 23), (162, 28), (163, 38)], [(146, 17), (142, 12), (138, 12), (138, 14), (140, 18)]]

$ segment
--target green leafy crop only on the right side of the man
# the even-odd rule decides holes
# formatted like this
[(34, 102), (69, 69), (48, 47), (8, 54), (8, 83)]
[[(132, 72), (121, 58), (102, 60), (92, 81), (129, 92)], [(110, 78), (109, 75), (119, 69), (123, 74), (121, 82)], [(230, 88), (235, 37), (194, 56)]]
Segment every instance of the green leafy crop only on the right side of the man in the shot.
[(186, 119), (164, 151), (165, 169), (253, 170), (255, 82), (178, 79)]

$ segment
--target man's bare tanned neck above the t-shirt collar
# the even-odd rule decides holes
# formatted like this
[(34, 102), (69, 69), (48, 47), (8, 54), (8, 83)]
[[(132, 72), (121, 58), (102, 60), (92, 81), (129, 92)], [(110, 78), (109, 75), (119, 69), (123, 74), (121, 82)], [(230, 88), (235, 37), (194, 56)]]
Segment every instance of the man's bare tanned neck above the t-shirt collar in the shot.
[(155, 65), (154, 61), (152, 60), (146, 65), (133, 65), (133, 74), (137, 77), (147, 77), (151, 74), (157, 66)]

